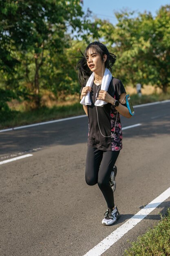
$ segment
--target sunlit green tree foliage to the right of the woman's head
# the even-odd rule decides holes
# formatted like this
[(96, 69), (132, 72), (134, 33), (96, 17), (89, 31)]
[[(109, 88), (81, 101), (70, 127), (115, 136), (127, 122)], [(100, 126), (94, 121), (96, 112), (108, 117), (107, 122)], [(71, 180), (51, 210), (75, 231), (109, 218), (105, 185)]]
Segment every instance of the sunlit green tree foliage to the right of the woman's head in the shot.
[(100, 37), (117, 55), (115, 75), (126, 84), (170, 86), (170, 5), (151, 13), (115, 13), (117, 24), (98, 20)]

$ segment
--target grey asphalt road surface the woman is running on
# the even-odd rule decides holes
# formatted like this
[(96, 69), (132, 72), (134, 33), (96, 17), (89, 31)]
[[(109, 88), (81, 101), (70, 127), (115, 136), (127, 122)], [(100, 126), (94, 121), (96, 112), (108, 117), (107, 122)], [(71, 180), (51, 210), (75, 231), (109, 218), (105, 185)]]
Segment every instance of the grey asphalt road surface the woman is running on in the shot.
[[(170, 187), (170, 103), (135, 109), (121, 117), (123, 149), (117, 160), (115, 203), (121, 217), (102, 226), (106, 203), (84, 180), (87, 117), (0, 133), (0, 255), (83, 256)], [(170, 198), (111, 246), (122, 256), (170, 207)]]

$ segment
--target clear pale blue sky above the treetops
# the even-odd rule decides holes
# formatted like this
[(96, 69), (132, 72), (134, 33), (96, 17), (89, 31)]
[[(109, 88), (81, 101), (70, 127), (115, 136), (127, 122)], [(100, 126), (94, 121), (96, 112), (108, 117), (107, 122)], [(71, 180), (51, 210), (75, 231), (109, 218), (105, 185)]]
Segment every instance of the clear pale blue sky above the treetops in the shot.
[(162, 5), (170, 4), (170, 0), (83, 0), (83, 11), (89, 8), (97, 18), (109, 20), (116, 24), (116, 11), (127, 10), (143, 13), (150, 11), (153, 16)]

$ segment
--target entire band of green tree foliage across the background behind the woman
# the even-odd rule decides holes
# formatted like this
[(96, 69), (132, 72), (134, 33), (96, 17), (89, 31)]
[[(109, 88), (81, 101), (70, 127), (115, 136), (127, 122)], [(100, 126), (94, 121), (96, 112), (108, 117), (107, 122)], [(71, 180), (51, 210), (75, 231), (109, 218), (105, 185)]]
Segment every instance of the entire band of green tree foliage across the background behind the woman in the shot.
[[(0, 0), (0, 88), (40, 107), (43, 90), (57, 98), (79, 92), (79, 49), (93, 40), (117, 55), (114, 76), (124, 84), (170, 86), (170, 5), (151, 13), (116, 13), (117, 24), (82, 11), (82, 0)], [(3, 99), (3, 109), (7, 104)], [(2, 103), (1, 103), (2, 104)], [(5, 107), (4, 107), (5, 106)], [(2, 110), (2, 108), (1, 108)], [(4, 110), (3, 110), (4, 111)]]

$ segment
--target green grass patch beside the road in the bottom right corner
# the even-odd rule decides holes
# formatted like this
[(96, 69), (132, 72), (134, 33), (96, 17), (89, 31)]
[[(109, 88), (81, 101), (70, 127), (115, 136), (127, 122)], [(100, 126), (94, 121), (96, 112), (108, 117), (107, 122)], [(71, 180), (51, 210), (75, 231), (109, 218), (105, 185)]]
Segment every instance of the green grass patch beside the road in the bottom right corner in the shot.
[(170, 256), (170, 208), (158, 225), (139, 236), (125, 256)]

